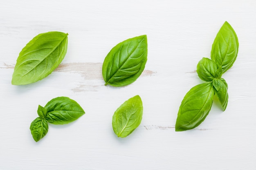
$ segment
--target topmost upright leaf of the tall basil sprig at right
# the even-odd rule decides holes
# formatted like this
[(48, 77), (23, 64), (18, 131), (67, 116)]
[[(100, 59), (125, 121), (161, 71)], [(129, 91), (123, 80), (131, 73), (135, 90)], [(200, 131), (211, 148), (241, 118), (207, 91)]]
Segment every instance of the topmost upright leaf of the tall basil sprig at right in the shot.
[(236, 32), (226, 21), (220, 28), (211, 49), (211, 60), (222, 67), (223, 73), (236, 61), (238, 46)]

